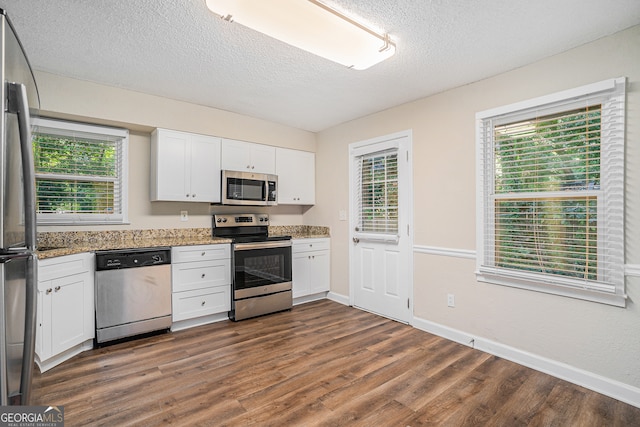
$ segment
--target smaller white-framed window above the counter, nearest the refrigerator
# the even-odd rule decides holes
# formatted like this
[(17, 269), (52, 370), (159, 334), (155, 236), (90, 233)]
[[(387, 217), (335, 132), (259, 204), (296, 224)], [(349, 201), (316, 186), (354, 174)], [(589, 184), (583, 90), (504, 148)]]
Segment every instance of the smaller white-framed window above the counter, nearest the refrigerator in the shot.
[(38, 224), (127, 222), (129, 132), (35, 119)]

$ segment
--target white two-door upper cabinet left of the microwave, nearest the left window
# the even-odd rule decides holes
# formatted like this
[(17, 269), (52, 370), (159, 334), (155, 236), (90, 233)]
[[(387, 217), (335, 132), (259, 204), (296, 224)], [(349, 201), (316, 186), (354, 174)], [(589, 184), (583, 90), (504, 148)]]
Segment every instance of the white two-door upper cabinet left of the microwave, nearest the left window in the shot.
[(156, 129), (151, 134), (151, 201), (220, 202), (218, 137)]

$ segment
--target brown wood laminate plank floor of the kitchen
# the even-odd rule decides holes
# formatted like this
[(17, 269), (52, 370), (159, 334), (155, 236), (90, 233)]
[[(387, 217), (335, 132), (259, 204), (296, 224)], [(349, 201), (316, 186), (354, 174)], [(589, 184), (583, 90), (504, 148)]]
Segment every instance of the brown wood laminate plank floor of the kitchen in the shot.
[(640, 409), (328, 300), (85, 352), (34, 378), (66, 425), (638, 426)]

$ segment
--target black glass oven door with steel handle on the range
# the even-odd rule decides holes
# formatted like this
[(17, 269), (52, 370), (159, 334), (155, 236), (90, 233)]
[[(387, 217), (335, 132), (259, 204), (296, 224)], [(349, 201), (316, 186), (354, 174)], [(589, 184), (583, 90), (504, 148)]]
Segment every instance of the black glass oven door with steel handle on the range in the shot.
[(291, 290), (291, 240), (234, 245), (235, 300)]

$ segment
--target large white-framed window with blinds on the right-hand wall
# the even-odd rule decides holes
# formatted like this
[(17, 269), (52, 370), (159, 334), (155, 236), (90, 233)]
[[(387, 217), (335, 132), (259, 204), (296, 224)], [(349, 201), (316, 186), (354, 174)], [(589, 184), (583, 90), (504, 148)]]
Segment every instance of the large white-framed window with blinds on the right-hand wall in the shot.
[(625, 305), (625, 79), (478, 113), (478, 280)]

